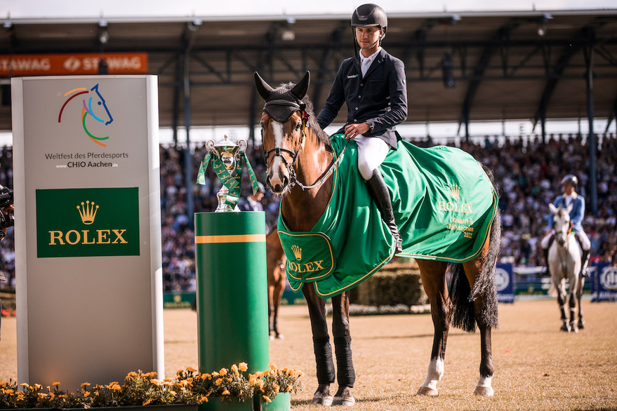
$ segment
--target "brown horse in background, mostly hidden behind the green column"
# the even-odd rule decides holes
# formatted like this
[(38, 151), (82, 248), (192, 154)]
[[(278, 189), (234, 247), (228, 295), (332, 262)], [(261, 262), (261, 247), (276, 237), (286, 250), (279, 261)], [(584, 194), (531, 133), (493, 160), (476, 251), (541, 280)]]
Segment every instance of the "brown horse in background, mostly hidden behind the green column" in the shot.
[(268, 328), (270, 339), (282, 339), (279, 332), (278, 317), (281, 298), (285, 290), (285, 262), (286, 257), (281, 247), (277, 230), (270, 231), (265, 236), (266, 264), (268, 283)]

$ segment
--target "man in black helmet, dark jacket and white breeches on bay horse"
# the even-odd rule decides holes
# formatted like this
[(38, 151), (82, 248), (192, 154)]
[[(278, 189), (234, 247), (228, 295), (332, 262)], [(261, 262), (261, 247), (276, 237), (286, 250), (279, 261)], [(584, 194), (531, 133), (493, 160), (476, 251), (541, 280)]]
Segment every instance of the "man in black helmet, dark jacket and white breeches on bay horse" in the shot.
[(401, 60), (381, 48), (387, 16), (376, 4), (363, 4), (352, 14), (354, 49), (359, 53), (343, 61), (317, 116), (324, 129), (347, 103), (347, 123), (336, 133), (354, 139), (358, 145), (358, 170), (366, 180), (383, 221), (402, 252), (402, 240), (394, 221), (392, 200), (378, 167), (390, 149), (402, 140), (396, 126), (407, 118), (405, 67)]

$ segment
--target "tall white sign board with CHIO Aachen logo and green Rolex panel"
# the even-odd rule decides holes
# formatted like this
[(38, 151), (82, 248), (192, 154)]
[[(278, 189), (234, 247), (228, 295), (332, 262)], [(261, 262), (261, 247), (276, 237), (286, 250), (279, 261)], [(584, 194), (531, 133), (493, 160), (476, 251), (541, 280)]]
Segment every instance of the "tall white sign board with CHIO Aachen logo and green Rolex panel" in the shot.
[(11, 90), (18, 381), (164, 377), (157, 77)]

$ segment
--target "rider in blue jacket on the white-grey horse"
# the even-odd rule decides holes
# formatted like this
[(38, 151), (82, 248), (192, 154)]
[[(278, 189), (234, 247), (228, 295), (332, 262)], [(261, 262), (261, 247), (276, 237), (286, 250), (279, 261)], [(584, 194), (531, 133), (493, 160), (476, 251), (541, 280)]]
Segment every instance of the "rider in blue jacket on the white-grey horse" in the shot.
[[(585, 231), (583, 230), (583, 218), (585, 218), (585, 198), (580, 196), (580, 194), (576, 193), (576, 186), (578, 185), (578, 178), (576, 175), (566, 175), (562, 178), (562, 186), (564, 187), (564, 194), (557, 196), (555, 198), (555, 202), (553, 205), (555, 207), (566, 208), (570, 204), (572, 204), (572, 210), (570, 211), (570, 222), (572, 224), (572, 229), (576, 234), (576, 238), (578, 239), (578, 243), (580, 244), (581, 250), (583, 250), (583, 255), (580, 257), (580, 274), (587, 277), (589, 276), (589, 271), (587, 268), (589, 262), (589, 250), (591, 248), (591, 242)], [(544, 252), (544, 260), (546, 262), (547, 272), (548, 271), (548, 249), (550, 248), (550, 244), (552, 243), (552, 237), (555, 235), (555, 230), (552, 227), (552, 218), (549, 218), (548, 224), (550, 230), (548, 233), (542, 238), (540, 241), (540, 245), (542, 246), (542, 250)]]

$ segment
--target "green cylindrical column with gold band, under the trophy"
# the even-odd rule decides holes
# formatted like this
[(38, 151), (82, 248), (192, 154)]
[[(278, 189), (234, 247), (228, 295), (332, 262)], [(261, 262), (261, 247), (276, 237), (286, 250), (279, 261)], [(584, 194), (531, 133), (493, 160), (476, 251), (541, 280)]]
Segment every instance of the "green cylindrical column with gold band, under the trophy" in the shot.
[[(267, 270), (265, 214), (195, 213), (199, 371), (248, 363), (267, 370)], [(218, 398), (202, 410), (252, 410)]]

